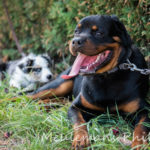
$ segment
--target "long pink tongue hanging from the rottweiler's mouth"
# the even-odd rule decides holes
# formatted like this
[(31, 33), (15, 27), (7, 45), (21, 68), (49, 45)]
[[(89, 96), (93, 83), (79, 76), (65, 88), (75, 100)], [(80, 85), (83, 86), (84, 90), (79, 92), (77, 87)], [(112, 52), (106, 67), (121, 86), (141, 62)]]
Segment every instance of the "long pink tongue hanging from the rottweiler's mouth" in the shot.
[(82, 65), (84, 59), (87, 57), (87, 55), (81, 54), (79, 53), (73, 66), (72, 69), (70, 71), (70, 73), (68, 75), (62, 75), (61, 78), (63, 79), (71, 79), (74, 76), (78, 75), (79, 71), (80, 71), (80, 66)]

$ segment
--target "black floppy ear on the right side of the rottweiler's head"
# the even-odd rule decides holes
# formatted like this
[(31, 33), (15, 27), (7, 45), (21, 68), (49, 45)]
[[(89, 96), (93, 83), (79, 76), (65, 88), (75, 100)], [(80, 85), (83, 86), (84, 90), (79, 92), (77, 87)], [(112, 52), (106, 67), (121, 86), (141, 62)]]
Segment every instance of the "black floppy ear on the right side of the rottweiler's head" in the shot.
[(112, 36), (119, 37), (121, 39), (121, 43), (125, 47), (131, 47), (132, 41), (123, 23), (118, 19), (116, 15), (112, 15), (111, 19), (113, 24), (111, 29)]

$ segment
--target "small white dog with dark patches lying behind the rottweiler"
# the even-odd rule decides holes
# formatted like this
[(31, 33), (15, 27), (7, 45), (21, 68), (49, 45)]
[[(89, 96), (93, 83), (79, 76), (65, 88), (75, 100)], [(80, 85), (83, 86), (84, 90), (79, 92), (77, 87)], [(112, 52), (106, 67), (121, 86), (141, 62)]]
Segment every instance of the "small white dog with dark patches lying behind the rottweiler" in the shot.
[(9, 77), (9, 85), (24, 92), (32, 91), (39, 83), (46, 83), (52, 79), (50, 70), (51, 59), (48, 55), (34, 55), (1, 64), (1, 72), (5, 71)]

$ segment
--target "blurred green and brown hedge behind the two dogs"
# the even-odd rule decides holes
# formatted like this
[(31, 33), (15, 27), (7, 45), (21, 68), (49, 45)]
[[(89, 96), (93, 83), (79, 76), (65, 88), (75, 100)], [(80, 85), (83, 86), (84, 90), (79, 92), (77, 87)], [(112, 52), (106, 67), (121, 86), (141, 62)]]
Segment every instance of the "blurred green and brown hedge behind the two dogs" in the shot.
[[(77, 22), (92, 14), (116, 14), (134, 43), (150, 55), (149, 0), (7, 0), (6, 4), (24, 52), (49, 53), (60, 71), (68, 67), (68, 43)], [(19, 57), (2, 1), (0, 55)]]

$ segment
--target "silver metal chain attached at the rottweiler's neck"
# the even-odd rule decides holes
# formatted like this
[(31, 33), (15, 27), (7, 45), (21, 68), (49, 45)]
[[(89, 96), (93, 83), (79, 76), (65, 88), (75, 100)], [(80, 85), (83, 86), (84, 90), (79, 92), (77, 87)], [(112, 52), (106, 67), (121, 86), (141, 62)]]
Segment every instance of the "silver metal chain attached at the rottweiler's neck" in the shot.
[(131, 63), (129, 59), (127, 59), (127, 63), (123, 63), (119, 65), (119, 69), (122, 70), (131, 70), (131, 71), (137, 71), (144, 75), (150, 74), (150, 69), (140, 69), (135, 64)]

